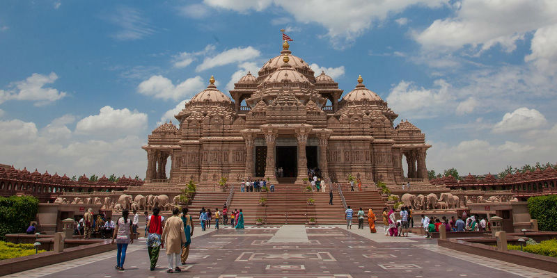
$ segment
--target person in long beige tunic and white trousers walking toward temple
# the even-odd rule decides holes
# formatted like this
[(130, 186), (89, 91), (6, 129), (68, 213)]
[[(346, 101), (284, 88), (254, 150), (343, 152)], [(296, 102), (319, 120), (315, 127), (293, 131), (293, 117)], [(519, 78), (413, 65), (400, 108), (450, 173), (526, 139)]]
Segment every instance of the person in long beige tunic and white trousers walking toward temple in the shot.
[(166, 256), (168, 257), (167, 273), (182, 272), (180, 267), (178, 267), (178, 263), (180, 263), (182, 246), (187, 240), (184, 231), (184, 222), (179, 214), (179, 208), (174, 208), (172, 210), (172, 216), (166, 220), (164, 231), (162, 232), (162, 242), (166, 243)]

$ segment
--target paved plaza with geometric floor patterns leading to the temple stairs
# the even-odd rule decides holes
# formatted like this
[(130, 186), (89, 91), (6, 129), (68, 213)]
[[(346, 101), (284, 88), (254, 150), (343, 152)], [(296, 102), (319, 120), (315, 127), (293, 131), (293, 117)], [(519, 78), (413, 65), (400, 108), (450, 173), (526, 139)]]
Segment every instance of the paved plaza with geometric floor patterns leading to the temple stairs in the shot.
[(182, 273), (166, 273), (161, 250), (149, 270), (144, 238), (127, 249), (125, 271), (114, 270), (116, 251), (19, 272), (8, 277), (556, 277), (521, 265), (437, 246), (421, 236), (385, 237), (343, 226), (195, 229)]

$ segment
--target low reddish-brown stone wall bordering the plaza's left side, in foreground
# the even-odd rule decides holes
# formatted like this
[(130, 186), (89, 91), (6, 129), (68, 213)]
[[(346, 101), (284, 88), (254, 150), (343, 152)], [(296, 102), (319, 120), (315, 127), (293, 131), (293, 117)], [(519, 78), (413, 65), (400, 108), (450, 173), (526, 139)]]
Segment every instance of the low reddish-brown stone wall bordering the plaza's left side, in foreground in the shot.
[(7, 259), (0, 261), (0, 276), (31, 270), (33, 268), (41, 268), (54, 263), (71, 261), (83, 258), (84, 256), (100, 254), (115, 249), (116, 245), (111, 245), (109, 240), (102, 240), (100, 243), (68, 248), (65, 249), (64, 252), (47, 251), (40, 254)]

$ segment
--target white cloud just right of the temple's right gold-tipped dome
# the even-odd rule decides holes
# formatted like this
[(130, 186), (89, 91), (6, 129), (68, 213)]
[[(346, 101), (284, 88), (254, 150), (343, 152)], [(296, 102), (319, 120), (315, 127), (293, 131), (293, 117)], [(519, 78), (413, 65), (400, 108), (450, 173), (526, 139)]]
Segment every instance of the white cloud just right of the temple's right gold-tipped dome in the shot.
[(443, 79), (434, 81), (432, 89), (418, 88), (411, 82), (400, 81), (386, 101), (397, 113), (409, 113), (414, 118), (434, 117), (436, 110), (446, 108), (453, 101), (449, 89), (450, 84)]

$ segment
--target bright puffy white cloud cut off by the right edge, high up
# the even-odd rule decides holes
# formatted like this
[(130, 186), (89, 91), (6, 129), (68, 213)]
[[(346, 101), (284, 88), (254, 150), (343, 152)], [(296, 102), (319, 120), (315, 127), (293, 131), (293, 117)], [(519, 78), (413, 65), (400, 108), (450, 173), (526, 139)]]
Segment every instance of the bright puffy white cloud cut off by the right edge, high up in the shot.
[(557, 70), (557, 24), (539, 28), (532, 38), (532, 53), (524, 57), (532, 62), (538, 70), (554, 75)]

